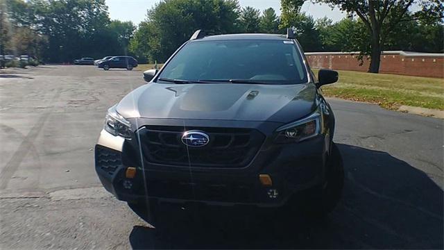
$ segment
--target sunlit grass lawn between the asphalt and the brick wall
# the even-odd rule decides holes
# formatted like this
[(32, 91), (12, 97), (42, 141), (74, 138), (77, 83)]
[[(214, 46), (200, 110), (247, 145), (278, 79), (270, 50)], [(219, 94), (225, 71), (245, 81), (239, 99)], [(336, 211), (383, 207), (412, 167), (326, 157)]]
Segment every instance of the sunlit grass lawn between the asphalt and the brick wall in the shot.
[[(314, 70), (315, 74), (318, 70)], [(384, 108), (401, 105), (444, 110), (444, 79), (339, 70), (339, 81), (323, 86), (326, 97), (377, 103)]]

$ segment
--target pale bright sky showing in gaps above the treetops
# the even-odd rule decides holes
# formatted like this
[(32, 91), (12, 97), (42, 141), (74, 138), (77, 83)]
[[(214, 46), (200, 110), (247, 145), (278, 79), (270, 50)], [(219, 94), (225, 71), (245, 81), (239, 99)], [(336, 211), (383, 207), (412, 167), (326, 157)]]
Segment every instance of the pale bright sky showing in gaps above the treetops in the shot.
[[(145, 19), (146, 10), (153, 7), (155, 3), (160, 0), (105, 0), (108, 5), (111, 19), (119, 19), (121, 21), (132, 21), (134, 24), (139, 24)], [(252, 6), (259, 10), (266, 8), (273, 8), (280, 15), (280, 0), (239, 0), (241, 7)], [(318, 3), (311, 3), (306, 1), (302, 6), (302, 11), (312, 15), (314, 19), (321, 17), (329, 17), (333, 22), (337, 22), (343, 17), (345, 13), (338, 8), (330, 8), (326, 5)]]

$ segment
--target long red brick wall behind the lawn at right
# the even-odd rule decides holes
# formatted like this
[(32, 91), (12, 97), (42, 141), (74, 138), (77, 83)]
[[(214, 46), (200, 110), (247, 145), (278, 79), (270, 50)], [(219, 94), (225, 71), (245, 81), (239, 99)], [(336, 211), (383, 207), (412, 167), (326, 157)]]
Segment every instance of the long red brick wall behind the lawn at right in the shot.
[[(367, 72), (370, 65), (370, 60), (364, 58), (364, 64), (359, 66), (357, 53), (310, 52), (305, 56), (313, 68)], [(379, 72), (444, 78), (444, 54), (384, 51)]]

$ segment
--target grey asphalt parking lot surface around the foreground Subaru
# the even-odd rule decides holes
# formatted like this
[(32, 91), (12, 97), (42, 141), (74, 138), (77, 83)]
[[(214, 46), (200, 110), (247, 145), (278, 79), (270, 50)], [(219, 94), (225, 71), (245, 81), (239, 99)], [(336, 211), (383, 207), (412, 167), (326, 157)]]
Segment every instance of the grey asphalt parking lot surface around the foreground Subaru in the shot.
[(346, 178), (328, 219), (218, 210), (155, 238), (94, 172), (106, 110), (142, 84), (92, 66), (0, 74), (0, 249), (443, 249), (443, 120), (337, 99)]

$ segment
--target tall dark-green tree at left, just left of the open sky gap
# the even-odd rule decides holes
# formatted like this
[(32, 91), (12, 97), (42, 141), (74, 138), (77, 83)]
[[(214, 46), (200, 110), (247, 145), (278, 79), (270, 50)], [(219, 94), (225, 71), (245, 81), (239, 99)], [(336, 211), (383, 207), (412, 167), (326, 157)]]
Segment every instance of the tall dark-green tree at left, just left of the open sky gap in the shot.
[(35, 12), (40, 31), (49, 37), (45, 57), (69, 62), (82, 56), (99, 57), (108, 44), (98, 39), (110, 24), (105, 0), (44, 1)]

